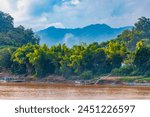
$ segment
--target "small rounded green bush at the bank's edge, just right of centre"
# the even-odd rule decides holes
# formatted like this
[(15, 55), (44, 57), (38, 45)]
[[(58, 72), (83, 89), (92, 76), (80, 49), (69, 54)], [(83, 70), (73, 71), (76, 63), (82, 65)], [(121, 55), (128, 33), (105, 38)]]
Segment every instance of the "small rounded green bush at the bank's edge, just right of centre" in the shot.
[(92, 71), (84, 71), (80, 74), (80, 79), (83, 80), (90, 80), (93, 78), (93, 73)]

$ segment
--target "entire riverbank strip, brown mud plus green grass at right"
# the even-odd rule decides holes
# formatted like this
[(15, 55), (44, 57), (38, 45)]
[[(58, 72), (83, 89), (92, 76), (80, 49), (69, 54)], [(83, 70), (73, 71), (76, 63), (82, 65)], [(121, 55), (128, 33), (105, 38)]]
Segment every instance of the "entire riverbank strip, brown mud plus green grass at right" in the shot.
[[(10, 78), (6, 82), (37, 82), (51, 84), (79, 84), (79, 85), (130, 85), (130, 86), (150, 86), (150, 77), (143, 76), (103, 76), (91, 80), (66, 79), (63, 76), (50, 75), (45, 78), (35, 76), (12, 75), (10, 73), (0, 73), (0, 81)], [(2, 80), (3, 79), (3, 80)]]

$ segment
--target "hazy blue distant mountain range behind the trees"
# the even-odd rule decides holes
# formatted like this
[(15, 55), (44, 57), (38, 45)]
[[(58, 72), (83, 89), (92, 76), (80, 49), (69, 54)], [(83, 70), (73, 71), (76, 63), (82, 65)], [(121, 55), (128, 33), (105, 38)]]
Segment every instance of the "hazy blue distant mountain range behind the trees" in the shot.
[(131, 28), (131, 26), (111, 28), (106, 24), (93, 24), (83, 28), (75, 29), (49, 27), (47, 29), (38, 31), (37, 34), (41, 38), (40, 44), (52, 46), (59, 43), (66, 43), (68, 46), (72, 46), (82, 42), (103, 42), (114, 39), (124, 30)]

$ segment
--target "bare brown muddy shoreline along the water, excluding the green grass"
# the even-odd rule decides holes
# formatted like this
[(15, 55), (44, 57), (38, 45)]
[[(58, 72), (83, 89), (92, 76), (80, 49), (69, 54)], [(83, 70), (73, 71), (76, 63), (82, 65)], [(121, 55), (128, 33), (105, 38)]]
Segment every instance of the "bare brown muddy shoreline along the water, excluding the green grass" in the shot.
[[(5, 81), (2, 80), (5, 77), (10, 77), (15, 80)], [(106, 76), (105, 76), (106, 77)], [(137, 78), (139, 76), (134, 76), (133, 78)], [(110, 85), (110, 86), (150, 86), (150, 83), (138, 83), (138, 82), (123, 82), (120, 81), (120, 76), (109, 76), (96, 82), (96, 80), (67, 80), (62, 76), (47, 76), (45, 78), (38, 79), (34, 76), (24, 76), (24, 75), (12, 75), (9, 73), (0, 73), (0, 84), (2, 83), (38, 83), (38, 84), (66, 84), (66, 85)]]

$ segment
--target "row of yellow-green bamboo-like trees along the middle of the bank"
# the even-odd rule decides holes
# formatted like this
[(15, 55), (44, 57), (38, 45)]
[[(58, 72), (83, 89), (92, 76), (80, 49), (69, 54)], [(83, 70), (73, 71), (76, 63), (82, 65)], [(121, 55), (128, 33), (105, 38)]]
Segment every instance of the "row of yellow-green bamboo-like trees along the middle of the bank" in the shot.
[(27, 74), (36, 74), (38, 77), (57, 74), (66, 78), (76, 76), (90, 79), (93, 75), (107, 74), (112, 69), (119, 68), (125, 53), (125, 45), (118, 42), (110, 42), (107, 47), (93, 43), (72, 48), (65, 44), (51, 48), (27, 44), (13, 53), (12, 60), (25, 66)]

